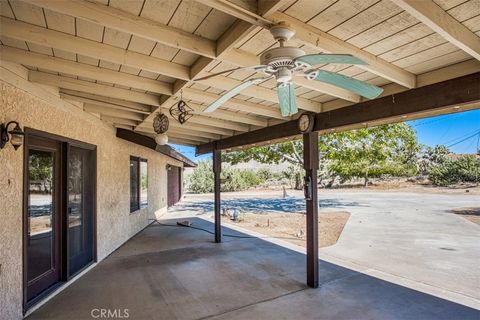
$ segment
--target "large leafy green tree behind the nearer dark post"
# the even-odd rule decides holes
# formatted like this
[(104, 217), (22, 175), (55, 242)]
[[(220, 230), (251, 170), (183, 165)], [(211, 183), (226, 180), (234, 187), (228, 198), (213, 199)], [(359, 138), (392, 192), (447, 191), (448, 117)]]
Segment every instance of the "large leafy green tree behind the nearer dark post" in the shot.
[[(328, 186), (336, 177), (342, 182), (361, 177), (367, 185), (371, 177), (411, 175), (417, 171), (418, 150), (415, 132), (405, 123), (321, 135), (319, 178), (331, 179)], [(302, 142), (290, 141), (227, 153), (223, 160), (233, 164), (249, 160), (269, 164), (287, 162), (291, 164), (288, 174), (295, 176), (299, 188), (302, 154)]]

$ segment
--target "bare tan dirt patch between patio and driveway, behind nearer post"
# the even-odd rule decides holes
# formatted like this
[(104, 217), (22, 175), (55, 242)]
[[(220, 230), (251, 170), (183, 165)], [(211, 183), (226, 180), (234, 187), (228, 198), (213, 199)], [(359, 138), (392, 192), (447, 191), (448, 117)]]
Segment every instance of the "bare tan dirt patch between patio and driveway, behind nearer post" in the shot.
[[(345, 211), (321, 212), (319, 214), (318, 246), (328, 247), (337, 243), (343, 227), (348, 221), (350, 213)], [(225, 220), (228, 217), (224, 218)], [(301, 213), (269, 213), (241, 215), (241, 221), (228, 223), (242, 228), (265, 234), (271, 237), (279, 237), (282, 240), (296, 245), (306, 246), (305, 215)], [(224, 221), (225, 221), (224, 220)]]

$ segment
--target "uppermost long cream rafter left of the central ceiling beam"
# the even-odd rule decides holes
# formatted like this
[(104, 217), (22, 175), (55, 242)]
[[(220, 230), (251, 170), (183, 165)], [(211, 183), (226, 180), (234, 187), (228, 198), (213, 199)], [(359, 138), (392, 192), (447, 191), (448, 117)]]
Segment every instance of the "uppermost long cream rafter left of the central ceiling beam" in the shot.
[(60, 12), (77, 19), (159, 42), (194, 54), (215, 58), (215, 41), (154, 20), (88, 1), (25, 0), (33, 5)]

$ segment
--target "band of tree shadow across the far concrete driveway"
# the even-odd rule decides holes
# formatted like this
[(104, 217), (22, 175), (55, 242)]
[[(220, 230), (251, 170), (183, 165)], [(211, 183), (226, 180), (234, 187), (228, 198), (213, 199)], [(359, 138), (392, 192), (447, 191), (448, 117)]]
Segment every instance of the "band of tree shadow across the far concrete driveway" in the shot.
[[(348, 209), (349, 207), (365, 207), (355, 201), (337, 199), (321, 199), (321, 208)], [(298, 197), (287, 198), (249, 198), (249, 199), (228, 199), (221, 201), (222, 208), (238, 209), (240, 211), (254, 213), (291, 213), (305, 212), (305, 200)], [(172, 207), (173, 211), (197, 211), (205, 214), (213, 211), (213, 201), (183, 201)]]

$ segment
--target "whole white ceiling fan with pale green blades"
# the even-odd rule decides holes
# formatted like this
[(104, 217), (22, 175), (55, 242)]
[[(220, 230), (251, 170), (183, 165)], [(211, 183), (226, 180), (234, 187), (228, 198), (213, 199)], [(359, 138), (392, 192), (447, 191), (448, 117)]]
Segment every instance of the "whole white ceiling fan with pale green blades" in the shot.
[(203, 110), (203, 112), (213, 112), (227, 100), (239, 94), (242, 90), (251, 85), (260, 84), (273, 77), (277, 81), (278, 103), (280, 105), (281, 114), (284, 117), (298, 112), (295, 98), (295, 76), (303, 76), (305, 79), (311, 81), (326, 82), (368, 99), (374, 99), (383, 92), (382, 88), (369, 83), (315, 67), (322, 64), (365, 65), (366, 63), (359, 58), (350, 54), (320, 53), (306, 55), (305, 52), (299, 48), (287, 47), (284, 44), (293, 37), (295, 31), (290, 29), (288, 24), (284, 22), (280, 22), (273, 26), (270, 29), (270, 33), (275, 41), (278, 42), (279, 47), (265, 51), (260, 56), (260, 65), (225, 70), (196, 79), (204, 80), (241, 69), (250, 69), (265, 74), (265, 77), (246, 80), (235, 88), (227, 91), (216, 101), (212, 102), (205, 110)]

